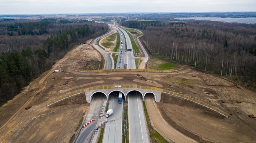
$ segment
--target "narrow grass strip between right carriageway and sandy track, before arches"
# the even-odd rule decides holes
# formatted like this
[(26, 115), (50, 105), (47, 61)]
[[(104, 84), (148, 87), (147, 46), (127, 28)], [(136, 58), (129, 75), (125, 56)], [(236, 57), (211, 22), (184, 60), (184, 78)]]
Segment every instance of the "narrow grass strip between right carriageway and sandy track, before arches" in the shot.
[(147, 111), (146, 104), (144, 101), (143, 101), (143, 108), (144, 108), (144, 113), (145, 113), (145, 117), (146, 117), (146, 121), (147, 121), (147, 125), (148, 125), (149, 137), (150, 137), (151, 142), (168, 143), (166, 141), (166, 139), (163, 138), (163, 136), (161, 136), (156, 130), (151, 128), (148, 111)]

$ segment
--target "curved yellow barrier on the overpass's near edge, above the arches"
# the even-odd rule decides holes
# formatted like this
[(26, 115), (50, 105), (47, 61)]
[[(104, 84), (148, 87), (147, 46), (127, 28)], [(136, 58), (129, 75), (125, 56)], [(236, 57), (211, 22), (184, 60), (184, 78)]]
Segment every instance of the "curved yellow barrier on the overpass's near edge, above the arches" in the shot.
[(71, 96), (74, 96), (74, 95), (78, 95), (82, 92), (87, 92), (87, 91), (90, 91), (90, 90), (100, 90), (100, 89), (129, 89), (129, 88), (138, 88), (138, 89), (149, 89), (149, 90), (155, 90), (155, 91), (160, 91), (160, 92), (164, 92), (164, 93), (168, 93), (168, 94), (171, 94), (171, 95), (175, 95), (177, 97), (180, 97), (180, 98), (184, 98), (186, 100), (189, 100), (189, 101), (192, 101), (192, 102), (195, 102), (197, 104), (200, 104), (200, 105), (203, 105), (207, 108), (210, 108), (218, 113), (220, 113), (221, 115), (224, 115), (225, 117), (228, 117), (228, 114), (220, 109), (218, 109), (217, 107), (214, 107), (212, 105), (209, 105), (207, 103), (204, 103), (202, 101), (199, 101), (195, 98), (192, 98), (192, 97), (189, 97), (187, 95), (182, 95), (182, 94), (179, 94), (179, 93), (176, 93), (176, 92), (172, 92), (172, 91), (169, 91), (169, 90), (165, 90), (165, 89), (160, 89), (160, 88), (157, 88), (157, 87), (151, 87), (151, 86), (140, 86), (140, 85), (122, 85), (120, 87), (115, 87), (115, 86), (94, 86), (94, 87), (89, 87), (89, 88), (86, 88), (86, 89), (81, 89), (81, 90), (78, 90), (78, 91), (75, 91), (73, 93), (69, 93), (65, 96), (61, 96), (59, 98), (56, 98), (50, 102), (47, 103), (47, 106), (50, 106), (51, 104), (54, 104), (58, 101), (61, 101), (65, 98), (69, 98)]

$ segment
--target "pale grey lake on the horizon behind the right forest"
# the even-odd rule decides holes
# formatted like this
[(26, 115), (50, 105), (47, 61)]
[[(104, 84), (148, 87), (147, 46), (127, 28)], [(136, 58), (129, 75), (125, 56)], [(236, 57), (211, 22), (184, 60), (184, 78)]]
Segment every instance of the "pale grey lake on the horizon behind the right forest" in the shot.
[(180, 17), (175, 19), (195, 19), (195, 20), (210, 20), (210, 21), (221, 21), (221, 22), (237, 22), (237, 23), (248, 23), (255, 24), (256, 17), (247, 17), (247, 18), (230, 18), (230, 17)]

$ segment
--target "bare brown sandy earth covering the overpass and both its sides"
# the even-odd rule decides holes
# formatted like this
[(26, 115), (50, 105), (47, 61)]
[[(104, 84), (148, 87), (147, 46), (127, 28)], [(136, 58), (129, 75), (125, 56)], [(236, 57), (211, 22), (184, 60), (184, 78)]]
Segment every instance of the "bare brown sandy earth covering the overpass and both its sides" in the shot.
[[(230, 80), (190, 67), (169, 73), (85, 73), (72, 70), (83, 67), (88, 60), (100, 59), (100, 54), (91, 45), (76, 46), (56, 62), (52, 70), (44, 72), (24, 88), (22, 93), (0, 107), (0, 142), (68, 142), (80, 119), (87, 112), (89, 104), (85, 102), (83, 95), (76, 95), (76, 98), (63, 100), (50, 107), (46, 106), (47, 102), (78, 89), (107, 85), (161, 87), (190, 95), (229, 114), (232, 113), (229, 118), (224, 118), (193, 102), (179, 101), (170, 95), (162, 94), (161, 102), (156, 103), (157, 107), (147, 103), (148, 112), (152, 123), (160, 132), (167, 137), (170, 132), (175, 134), (170, 136), (173, 141), (255, 141), (256, 121), (255, 118), (248, 117), (248, 114), (256, 115), (255, 91), (243, 86), (239, 89), (237, 84)], [(65, 72), (53, 73), (54, 69)], [(140, 80), (142, 76), (146, 82)], [(60, 86), (66, 81), (69, 83)], [(36, 95), (37, 93), (40, 95)], [(221, 100), (225, 100), (225, 103), (221, 103)], [(242, 103), (237, 104), (235, 101)], [(32, 108), (24, 110), (26, 106)], [(159, 113), (165, 124), (157, 126)]]

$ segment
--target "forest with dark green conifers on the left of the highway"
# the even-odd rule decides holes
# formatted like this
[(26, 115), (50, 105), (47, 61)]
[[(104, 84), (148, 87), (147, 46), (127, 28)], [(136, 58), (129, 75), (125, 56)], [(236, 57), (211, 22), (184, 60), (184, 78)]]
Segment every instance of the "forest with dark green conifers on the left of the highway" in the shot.
[(0, 19), (0, 106), (74, 45), (107, 31), (107, 24), (87, 20)]

